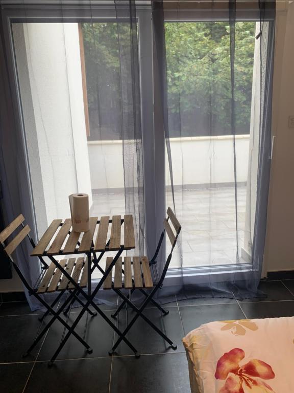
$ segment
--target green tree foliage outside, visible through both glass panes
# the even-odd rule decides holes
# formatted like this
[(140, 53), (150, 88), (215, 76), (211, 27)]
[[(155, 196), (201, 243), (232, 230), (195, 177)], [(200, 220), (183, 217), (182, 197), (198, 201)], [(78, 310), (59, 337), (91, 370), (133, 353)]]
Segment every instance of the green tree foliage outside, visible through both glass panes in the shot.
[[(84, 23), (88, 106), (92, 129), (118, 129), (120, 63), (116, 23)], [(235, 119), (239, 133), (249, 132), (254, 57), (254, 22), (236, 23)], [(120, 28), (121, 42), (130, 34)], [(166, 23), (165, 41), (168, 80), (168, 110), (171, 117), (203, 114), (212, 119), (219, 133), (230, 134), (231, 68), (228, 22)], [(130, 81), (131, 83), (131, 81)], [(184, 122), (183, 122), (184, 124)], [(180, 124), (171, 121), (171, 126)], [(193, 128), (191, 121), (186, 128)], [(238, 132), (237, 129), (237, 132)], [(171, 135), (179, 135), (178, 129)], [(184, 130), (182, 135), (193, 135)], [(201, 130), (198, 135), (201, 135)], [(117, 131), (116, 131), (117, 133)], [(103, 136), (100, 136), (104, 139)], [(119, 135), (117, 135), (119, 138)], [(97, 136), (96, 136), (97, 138)]]

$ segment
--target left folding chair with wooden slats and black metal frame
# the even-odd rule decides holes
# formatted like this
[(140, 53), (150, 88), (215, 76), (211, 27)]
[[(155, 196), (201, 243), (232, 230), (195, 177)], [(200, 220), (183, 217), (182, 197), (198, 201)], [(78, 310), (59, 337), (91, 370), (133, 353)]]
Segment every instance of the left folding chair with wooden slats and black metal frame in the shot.
[[(46, 308), (47, 311), (44, 314), (44, 316), (46, 316), (48, 313), (51, 313), (53, 315), (53, 317), (46, 324), (43, 330), (39, 334), (37, 334), (37, 337), (35, 338), (33, 344), (30, 346), (27, 353), (24, 354), (23, 356), (27, 356), (33, 350), (33, 348), (44, 336), (44, 334), (47, 332), (47, 330), (50, 328), (50, 326), (53, 324), (55, 320), (61, 322), (64, 328), (70, 331), (71, 334), (74, 335), (81, 342), (81, 344), (85, 346), (89, 354), (92, 353), (92, 348), (90, 348), (90, 346), (84, 341), (84, 339), (82, 339), (75, 331), (71, 330), (71, 327), (67, 324), (68, 320), (64, 321), (60, 317), (60, 313), (62, 312), (62, 310), (75, 299), (78, 300), (80, 304), (84, 307), (84, 303), (77, 296), (77, 289), (75, 288), (73, 283), (69, 282), (68, 278), (65, 277), (64, 275), (61, 277), (62, 273), (54, 263), (47, 265), (44, 259), (42, 257), (39, 257), (43, 266), (41, 268), (41, 273), (37, 279), (37, 282), (35, 283), (35, 285), (31, 286), (26, 280), (26, 278), (24, 277), (24, 275), (22, 274), (18, 265), (13, 260), (12, 253), (26, 237), (29, 238), (31, 245), (35, 247), (35, 243), (32, 237), (30, 236), (31, 229), (29, 225), (24, 226), (23, 222), (24, 222), (24, 217), (22, 214), (20, 214), (18, 217), (16, 217), (16, 219), (11, 224), (9, 224), (0, 233), (0, 242), (4, 249), (4, 252), (10, 258), (11, 263), (16, 273), (20, 277), (24, 287), (26, 287), (27, 290), (29, 291), (29, 295), (34, 296)], [(20, 228), (21, 230), (9, 242), (7, 240), (9, 236), (11, 236), (13, 232), (17, 231)], [(65, 270), (70, 275), (70, 277), (74, 279), (74, 281), (78, 284), (79, 288), (84, 288), (87, 286), (87, 261), (84, 261), (83, 257), (77, 259), (76, 258), (63, 259), (60, 261), (60, 264), (63, 266), (63, 268), (65, 268)], [(61, 295), (66, 291), (68, 292), (68, 296), (66, 300), (62, 305), (58, 307), (58, 310), (55, 311), (53, 309), (54, 305), (60, 299)], [(57, 298), (54, 300), (54, 302), (50, 305), (43, 299), (41, 295), (44, 293), (53, 293), (53, 292), (60, 292), (60, 293), (57, 296)], [(91, 315), (96, 315), (95, 313), (92, 313), (88, 308), (87, 311)], [(44, 318), (44, 316), (41, 318), (41, 320)], [(49, 362), (48, 365), (52, 365), (52, 361)]]

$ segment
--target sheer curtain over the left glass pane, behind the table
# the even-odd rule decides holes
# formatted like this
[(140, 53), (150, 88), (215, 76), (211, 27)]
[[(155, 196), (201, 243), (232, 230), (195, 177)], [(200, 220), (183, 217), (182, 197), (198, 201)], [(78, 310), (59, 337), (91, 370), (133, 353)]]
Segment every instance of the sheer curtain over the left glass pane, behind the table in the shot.
[[(26, 208), (12, 201), (7, 222), (22, 212), (38, 238), (52, 220), (70, 216), (68, 195), (83, 192), (89, 195), (91, 215), (133, 214), (137, 253), (144, 254), (135, 1), (61, 0), (36, 7), (20, 1), (17, 20), (8, 20), (14, 6), (3, 11), (1, 38), (15, 69), (5, 56), (1, 65), (15, 73), (3, 73), (1, 81), (11, 81), (6, 86), (15, 97), (11, 119), (19, 122), (10, 119), (10, 129), (13, 138), (21, 136), (11, 169), (16, 184), (8, 189), (16, 193), (26, 183), (19, 191), (19, 205)], [(5, 106), (10, 107), (8, 98), (3, 113)], [(8, 138), (3, 124), (2, 138)], [(2, 157), (9, 166), (6, 151)], [(33, 283), (39, 263), (28, 255), (29, 249), (23, 250), (23, 269)], [(95, 272), (93, 278), (99, 276)]]

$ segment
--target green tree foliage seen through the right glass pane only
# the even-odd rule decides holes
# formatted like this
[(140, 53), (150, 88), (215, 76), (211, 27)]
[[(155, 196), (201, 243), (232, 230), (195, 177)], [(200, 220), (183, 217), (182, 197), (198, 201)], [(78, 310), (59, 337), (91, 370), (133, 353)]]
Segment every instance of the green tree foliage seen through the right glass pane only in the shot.
[[(199, 108), (230, 133), (230, 30), (226, 22), (166, 23), (168, 105), (182, 115)], [(254, 22), (237, 22), (234, 100), (236, 126), (249, 132)], [(244, 132), (244, 131), (243, 131)]]

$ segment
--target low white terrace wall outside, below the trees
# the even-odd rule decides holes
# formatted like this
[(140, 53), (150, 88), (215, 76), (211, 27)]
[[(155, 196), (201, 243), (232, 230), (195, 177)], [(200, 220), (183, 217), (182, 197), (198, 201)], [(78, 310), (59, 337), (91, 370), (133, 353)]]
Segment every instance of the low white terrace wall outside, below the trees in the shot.
[[(234, 182), (231, 136), (171, 138), (175, 185)], [(121, 141), (88, 142), (92, 189), (123, 188)], [(249, 135), (236, 136), (237, 181), (247, 182)], [(170, 184), (166, 157), (166, 185)]]

